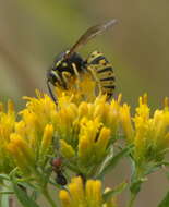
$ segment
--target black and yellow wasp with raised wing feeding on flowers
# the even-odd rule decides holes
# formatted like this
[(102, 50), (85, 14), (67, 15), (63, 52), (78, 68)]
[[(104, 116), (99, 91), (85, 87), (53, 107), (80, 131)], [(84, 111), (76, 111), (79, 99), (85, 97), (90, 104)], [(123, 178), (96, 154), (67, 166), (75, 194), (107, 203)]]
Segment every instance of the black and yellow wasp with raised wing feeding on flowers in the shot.
[[(84, 60), (76, 50), (88, 42), (92, 38), (113, 26), (118, 21), (110, 20), (104, 24), (95, 25), (88, 28), (80, 39), (65, 52), (60, 53), (53, 61), (50, 70), (47, 72), (47, 86), (51, 98), (57, 104), (57, 97), (53, 95), (51, 85), (60, 86), (63, 89), (69, 88), (71, 77), (80, 78), (80, 75), (88, 72), (96, 81), (98, 88), (102, 94), (111, 97), (114, 90), (114, 75), (112, 65), (102, 53), (94, 51)], [(50, 85), (51, 84), (51, 85)]]

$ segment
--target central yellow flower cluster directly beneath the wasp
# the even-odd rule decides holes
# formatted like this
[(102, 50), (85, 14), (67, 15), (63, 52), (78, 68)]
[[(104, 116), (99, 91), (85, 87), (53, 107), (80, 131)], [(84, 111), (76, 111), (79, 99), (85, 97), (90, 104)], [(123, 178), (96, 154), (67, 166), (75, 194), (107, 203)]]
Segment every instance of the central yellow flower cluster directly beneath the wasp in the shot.
[(99, 165), (114, 142), (120, 124), (120, 100), (108, 102), (98, 96), (93, 102), (58, 97), (58, 110), (53, 118), (56, 137), (59, 138), (62, 157), (75, 160), (83, 173)]

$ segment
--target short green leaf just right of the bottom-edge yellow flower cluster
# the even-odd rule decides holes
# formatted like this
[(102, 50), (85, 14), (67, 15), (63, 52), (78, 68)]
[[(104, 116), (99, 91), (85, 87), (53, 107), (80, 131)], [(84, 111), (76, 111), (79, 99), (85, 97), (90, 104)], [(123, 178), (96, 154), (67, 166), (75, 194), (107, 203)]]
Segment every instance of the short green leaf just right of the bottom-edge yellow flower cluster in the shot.
[(112, 196), (116, 196), (122, 193), (126, 188), (126, 186), (128, 186), (128, 183), (123, 182), (120, 185), (118, 185), (116, 188), (108, 191), (107, 193), (102, 195), (104, 202), (108, 202)]

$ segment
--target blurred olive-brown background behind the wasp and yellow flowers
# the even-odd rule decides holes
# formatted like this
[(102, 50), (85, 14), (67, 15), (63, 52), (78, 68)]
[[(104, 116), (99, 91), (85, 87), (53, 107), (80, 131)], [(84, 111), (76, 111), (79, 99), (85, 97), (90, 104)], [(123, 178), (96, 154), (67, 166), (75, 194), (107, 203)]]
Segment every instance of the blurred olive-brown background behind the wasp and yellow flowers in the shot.
[[(169, 1), (167, 0), (0, 0), (0, 98), (22, 108), (22, 96), (35, 88), (47, 92), (46, 70), (53, 57), (70, 48), (86, 28), (110, 19), (119, 24), (81, 49), (95, 49), (113, 62), (117, 93), (135, 107), (148, 94), (153, 109), (169, 96)], [(107, 184), (126, 178), (120, 167)], [(137, 207), (154, 207), (167, 191), (167, 181), (155, 173), (144, 185)], [(121, 198), (121, 206), (126, 195)]]

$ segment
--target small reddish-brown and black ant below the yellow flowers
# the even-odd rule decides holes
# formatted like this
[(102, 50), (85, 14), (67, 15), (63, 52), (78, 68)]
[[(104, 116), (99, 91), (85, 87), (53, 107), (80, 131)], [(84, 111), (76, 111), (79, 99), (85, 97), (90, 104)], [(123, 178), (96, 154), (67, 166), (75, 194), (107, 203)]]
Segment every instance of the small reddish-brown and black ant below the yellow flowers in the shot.
[(59, 185), (67, 185), (67, 179), (62, 172), (62, 159), (60, 157), (53, 158), (51, 161), (52, 170), (56, 172), (56, 182)]

